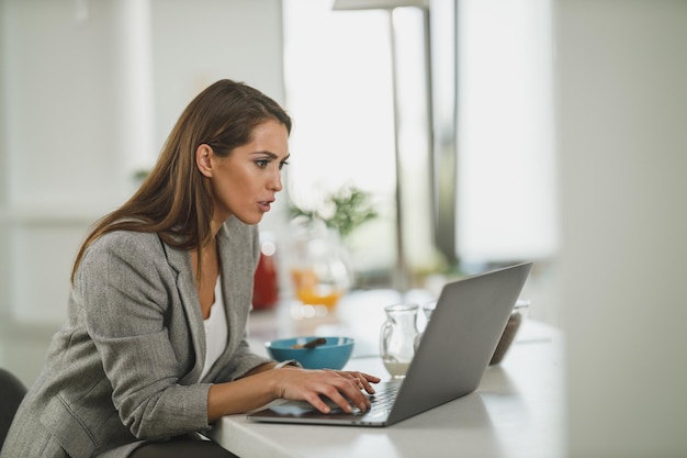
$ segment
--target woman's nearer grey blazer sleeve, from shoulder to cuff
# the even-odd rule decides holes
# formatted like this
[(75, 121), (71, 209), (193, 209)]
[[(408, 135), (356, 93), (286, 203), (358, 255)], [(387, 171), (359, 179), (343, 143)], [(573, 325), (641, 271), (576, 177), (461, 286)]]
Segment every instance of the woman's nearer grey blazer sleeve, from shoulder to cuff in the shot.
[(170, 340), (170, 317), (183, 313), (174, 281), (158, 237), (126, 232), (91, 245), (76, 279), (114, 405), (142, 439), (210, 427), (210, 384), (180, 382), (194, 359)]

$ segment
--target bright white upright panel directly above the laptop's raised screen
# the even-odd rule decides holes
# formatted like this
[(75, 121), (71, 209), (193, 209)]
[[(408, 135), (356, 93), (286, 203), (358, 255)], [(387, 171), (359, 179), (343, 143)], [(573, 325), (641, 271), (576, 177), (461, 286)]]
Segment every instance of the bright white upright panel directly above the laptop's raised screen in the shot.
[(459, 0), (457, 245), (461, 260), (558, 252), (551, 0)]

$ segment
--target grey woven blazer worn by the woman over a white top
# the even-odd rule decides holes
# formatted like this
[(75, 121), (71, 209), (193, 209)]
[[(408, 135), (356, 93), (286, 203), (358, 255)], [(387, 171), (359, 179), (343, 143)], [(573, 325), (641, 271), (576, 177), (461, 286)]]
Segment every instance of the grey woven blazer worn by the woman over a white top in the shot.
[(199, 380), (205, 331), (189, 253), (156, 234), (106, 234), (86, 252), (0, 458), (126, 457), (142, 440), (209, 429), (211, 383), (268, 361), (246, 343), (257, 227), (232, 217), (217, 241), (229, 336), (210, 373)]

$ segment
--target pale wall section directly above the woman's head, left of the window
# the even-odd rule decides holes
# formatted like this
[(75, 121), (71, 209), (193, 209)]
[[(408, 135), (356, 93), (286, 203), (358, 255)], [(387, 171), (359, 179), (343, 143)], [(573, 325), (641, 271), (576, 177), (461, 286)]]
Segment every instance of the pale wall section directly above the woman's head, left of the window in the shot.
[(153, 0), (156, 141), (221, 78), (284, 103), (281, 0)]

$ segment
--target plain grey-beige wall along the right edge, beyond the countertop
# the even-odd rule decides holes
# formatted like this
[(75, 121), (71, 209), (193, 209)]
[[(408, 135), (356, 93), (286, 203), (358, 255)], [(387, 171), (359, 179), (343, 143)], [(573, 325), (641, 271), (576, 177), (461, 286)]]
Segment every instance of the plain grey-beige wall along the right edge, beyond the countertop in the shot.
[(687, 2), (555, 15), (570, 457), (684, 457)]

